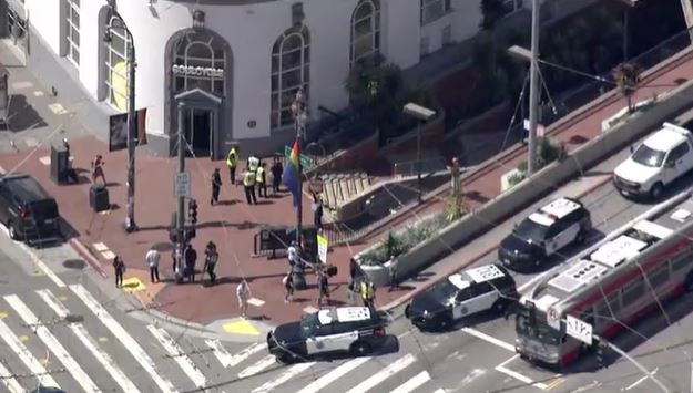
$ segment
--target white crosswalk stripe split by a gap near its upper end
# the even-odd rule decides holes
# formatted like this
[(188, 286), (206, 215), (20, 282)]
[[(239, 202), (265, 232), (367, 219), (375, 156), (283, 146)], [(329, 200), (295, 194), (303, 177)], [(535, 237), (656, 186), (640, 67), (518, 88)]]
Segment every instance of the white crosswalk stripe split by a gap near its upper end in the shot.
[[(70, 314), (70, 310), (51, 292), (49, 289), (38, 290), (39, 297), (55, 312), (60, 319), (65, 319)], [(104, 352), (94, 339), (89, 334), (89, 331), (82, 323), (68, 324), (70, 330), (77, 335), (78, 339), (86, 347), (89, 352), (96, 358), (99, 363), (111, 374), (118, 385), (126, 393), (139, 393), (140, 390), (130, 381), (128, 375), (115, 364), (113, 359)]]

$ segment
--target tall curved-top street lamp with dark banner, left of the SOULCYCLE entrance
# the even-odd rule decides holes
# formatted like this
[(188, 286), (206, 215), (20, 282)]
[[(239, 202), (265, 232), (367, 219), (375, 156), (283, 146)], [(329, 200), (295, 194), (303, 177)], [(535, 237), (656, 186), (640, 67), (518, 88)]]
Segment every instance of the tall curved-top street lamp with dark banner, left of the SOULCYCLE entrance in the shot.
[(115, 8), (112, 4), (110, 7), (113, 18), (106, 25), (104, 41), (111, 43), (113, 24), (118, 24), (116, 28), (122, 29), (128, 35), (125, 42), (130, 42), (128, 45), (128, 217), (125, 218), (125, 231), (130, 234), (137, 230), (135, 224), (135, 147), (137, 146), (135, 68), (137, 64), (135, 63), (135, 45), (132, 33)]

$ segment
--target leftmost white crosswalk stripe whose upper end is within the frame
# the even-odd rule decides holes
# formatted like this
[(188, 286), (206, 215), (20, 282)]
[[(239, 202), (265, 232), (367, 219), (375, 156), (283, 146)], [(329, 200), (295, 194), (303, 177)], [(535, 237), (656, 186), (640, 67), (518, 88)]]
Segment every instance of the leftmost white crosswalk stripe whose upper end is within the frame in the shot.
[(74, 378), (74, 380), (82, 386), (85, 392), (101, 392), (94, 381), (82, 370), (78, 362), (68, 353), (62, 344), (55, 339), (55, 337), (41, 324), (41, 321), (34, 316), (31, 310), (24, 304), (17, 294), (9, 294), (4, 297), (4, 301), (10, 304), (12, 309), (19, 314), (19, 317), (29, 325), (33, 325), (35, 334), (43, 341), (49, 351), (51, 351), (58, 360), (65, 366), (68, 372)]

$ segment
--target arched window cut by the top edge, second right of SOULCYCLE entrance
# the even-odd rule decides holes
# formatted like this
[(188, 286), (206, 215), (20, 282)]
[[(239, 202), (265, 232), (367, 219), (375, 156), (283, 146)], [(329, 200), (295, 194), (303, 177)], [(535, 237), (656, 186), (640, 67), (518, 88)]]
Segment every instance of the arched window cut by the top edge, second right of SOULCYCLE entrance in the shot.
[(380, 52), (380, 0), (360, 0), (351, 14), (351, 66)]

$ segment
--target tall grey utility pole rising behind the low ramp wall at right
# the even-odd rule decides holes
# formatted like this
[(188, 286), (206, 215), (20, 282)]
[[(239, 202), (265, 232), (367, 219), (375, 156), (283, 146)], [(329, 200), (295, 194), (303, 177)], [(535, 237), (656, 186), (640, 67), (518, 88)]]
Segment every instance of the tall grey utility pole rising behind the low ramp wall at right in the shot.
[(532, 46), (529, 76), (529, 155), (527, 176), (537, 170), (537, 123), (539, 115), (539, 0), (532, 0)]

